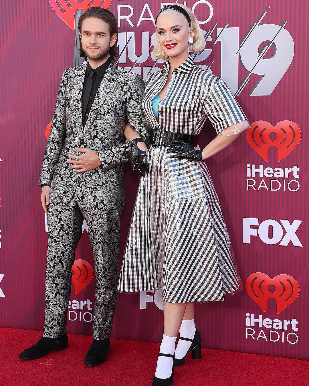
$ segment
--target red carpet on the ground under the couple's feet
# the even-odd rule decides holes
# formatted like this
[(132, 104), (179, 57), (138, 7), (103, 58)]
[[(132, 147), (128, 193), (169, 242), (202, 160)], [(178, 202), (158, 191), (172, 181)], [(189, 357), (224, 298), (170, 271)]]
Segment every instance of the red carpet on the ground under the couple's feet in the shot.
[[(19, 353), (34, 344), (38, 331), (0, 328), (1, 386), (148, 386), (152, 383), (159, 345), (111, 339), (108, 361), (84, 366), (92, 338), (69, 335), (68, 349), (41, 359), (21, 361)], [(203, 359), (187, 358), (175, 368), (173, 386), (188, 385), (309, 385), (309, 362), (297, 359), (203, 349)]]

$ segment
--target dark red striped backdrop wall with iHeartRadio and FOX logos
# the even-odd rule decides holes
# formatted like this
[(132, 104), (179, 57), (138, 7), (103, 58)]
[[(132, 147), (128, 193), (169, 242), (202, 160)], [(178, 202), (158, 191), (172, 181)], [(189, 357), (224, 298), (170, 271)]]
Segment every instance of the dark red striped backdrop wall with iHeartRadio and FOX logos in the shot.
[[(196, 305), (203, 346), (308, 359), (309, 5), (302, 0), (184, 3), (207, 41), (194, 61), (228, 84), (252, 124), (207, 160), (245, 289), (225, 302)], [(154, 19), (166, 2), (2, 1), (2, 327), (43, 328), (47, 228), (39, 172), (61, 74), (82, 63), (76, 24), (88, 4), (116, 16), (120, 66), (144, 79), (162, 67), (151, 51)], [(214, 135), (206, 125), (200, 146)], [(125, 185), (120, 262), (138, 185), (130, 164)], [(90, 335), (95, 277), (86, 223), (76, 260), (81, 276), (73, 276), (68, 332)], [(159, 342), (162, 322), (160, 294), (119, 294), (112, 336)]]

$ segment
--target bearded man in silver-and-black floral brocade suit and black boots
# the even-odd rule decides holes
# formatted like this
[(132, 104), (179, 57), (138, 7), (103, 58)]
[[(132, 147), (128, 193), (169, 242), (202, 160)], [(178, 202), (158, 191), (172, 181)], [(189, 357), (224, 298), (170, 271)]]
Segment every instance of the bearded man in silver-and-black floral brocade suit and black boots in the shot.
[(143, 142), (136, 143), (140, 139), (122, 143), (123, 132), (130, 124), (144, 138), (147, 121), (142, 78), (114, 63), (118, 28), (113, 14), (89, 8), (79, 18), (78, 29), (80, 55), (88, 64), (66, 69), (62, 75), (39, 182), (48, 220), (44, 334), (20, 359), (39, 358), (68, 346), (71, 267), (85, 218), (97, 279), (94, 339), (84, 361), (91, 366), (105, 361), (110, 348), (119, 219), (125, 200), (123, 164), (131, 145), (138, 156), (147, 151)]

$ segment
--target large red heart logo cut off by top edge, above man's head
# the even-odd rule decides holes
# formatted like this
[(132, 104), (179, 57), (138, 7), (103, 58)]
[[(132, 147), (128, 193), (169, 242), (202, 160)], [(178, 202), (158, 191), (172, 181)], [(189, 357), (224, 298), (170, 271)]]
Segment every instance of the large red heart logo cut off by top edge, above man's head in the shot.
[(107, 9), (110, 6), (111, 0), (49, 0), (49, 4), (56, 14), (68, 24), (68, 26), (75, 29), (75, 12), (79, 9), (86, 11), (89, 7), (101, 7)]

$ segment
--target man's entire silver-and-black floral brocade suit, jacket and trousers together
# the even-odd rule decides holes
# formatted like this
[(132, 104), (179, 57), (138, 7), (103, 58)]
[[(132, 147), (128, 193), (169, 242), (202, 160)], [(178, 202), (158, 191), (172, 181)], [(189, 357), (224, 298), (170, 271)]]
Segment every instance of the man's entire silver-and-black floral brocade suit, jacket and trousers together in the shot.
[[(44, 337), (66, 332), (71, 267), (85, 218), (97, 279), (93, 336), (100, 340), (110, 336), (117, 298), (119, 219), (125, 203), (123, 165), (131, 153), (128, 141), (124, 142), (124, 127), (130, 122), (146, 142), (151, 130), (142, 110), (144, 81), (113, 62), (83, 127), (85, 71), (82, 65), (62, 75), (39, 182), (51, 185)], [(69, 169), (68, 155), (82, 154), (76, 147), (96, 151), (101, 166), (85, 173)]]

